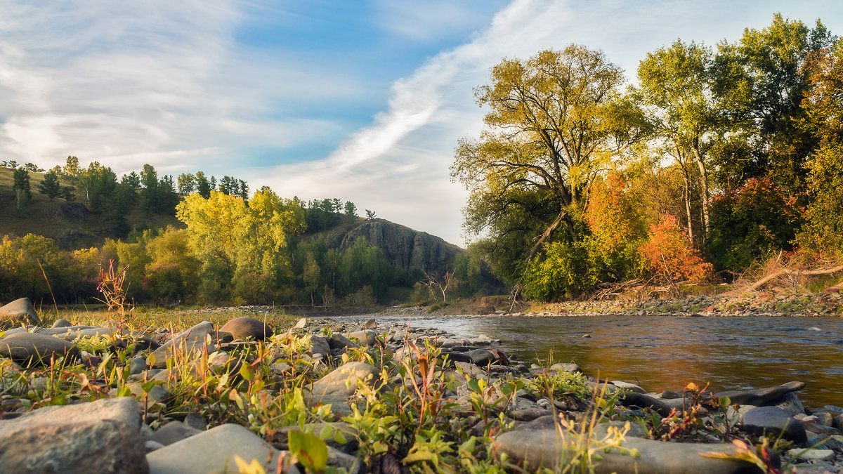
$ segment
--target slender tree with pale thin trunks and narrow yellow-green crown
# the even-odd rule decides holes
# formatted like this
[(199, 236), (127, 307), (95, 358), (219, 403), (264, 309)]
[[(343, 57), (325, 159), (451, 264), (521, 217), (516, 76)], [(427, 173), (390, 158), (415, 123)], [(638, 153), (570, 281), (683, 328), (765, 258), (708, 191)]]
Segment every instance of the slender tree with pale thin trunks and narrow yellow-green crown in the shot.
[[(681, 166), (685, 179), (686, 209), (690, 214), (690, 173), (686, 167), (688, 155), (693, 157), (699, 170), (701, 189), (703, 239), (711, 229), (708, 209), (708, 164), (706, 150), (720, 127), (711, 89), (715, 80), (711, 49), (674, 41), (667, 48), (648, 53), (638, 67), (640, 93), (648, 106), (648, 116), (658, 133), (657, 137), (668, 144), (664, 149)], [(688, 218), (689, 229), (692, 220)]]

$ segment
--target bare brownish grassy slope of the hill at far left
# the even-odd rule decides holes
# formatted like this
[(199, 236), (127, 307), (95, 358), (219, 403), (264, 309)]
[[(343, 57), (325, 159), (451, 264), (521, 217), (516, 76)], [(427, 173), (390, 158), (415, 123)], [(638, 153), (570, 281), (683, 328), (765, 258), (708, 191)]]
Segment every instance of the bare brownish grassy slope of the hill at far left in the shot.
[[(42, 173), (30, 171), (32, 201), (27, 215), (19, 217), (14, 206), (12, 174), (13, 170), (0, 168), (0, 235), (44, 235), (55, 240), (64, 250), (101, 245), (106, 238), (120, 237), (115, 234), (113, 219), (105, 213), (90, 212), (78, 191), (74, 202), (67, 202), (61, 197), (50, 201), (38, 192), (38, 184), (44, 180)], [(62, 185), (70, 184), (62, 181)], [(172, 215), (154, 213), (152, 217), (148, 217), (138, 209), (128, 213), (126, 221), (137, 229), (158, 229), (168, 225), (184, 227), (184, 224)]]

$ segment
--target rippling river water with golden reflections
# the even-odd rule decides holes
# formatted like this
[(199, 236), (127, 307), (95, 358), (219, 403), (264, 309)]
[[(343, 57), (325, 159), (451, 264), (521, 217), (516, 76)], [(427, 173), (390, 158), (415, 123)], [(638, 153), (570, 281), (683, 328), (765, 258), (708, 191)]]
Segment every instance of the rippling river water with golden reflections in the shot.
[[(394, 319), (407, 322), (407, 318)], [(526, 362), (574, 362), (588, 375), (647, 391), (712, 391), (805, 382), (806, 407), (843, 407), (843, 319), (678, 316), (483, 316), (416, 318), (459, 337), (500, 339)], [(588, 334), (591, 337), (583, 337)]]

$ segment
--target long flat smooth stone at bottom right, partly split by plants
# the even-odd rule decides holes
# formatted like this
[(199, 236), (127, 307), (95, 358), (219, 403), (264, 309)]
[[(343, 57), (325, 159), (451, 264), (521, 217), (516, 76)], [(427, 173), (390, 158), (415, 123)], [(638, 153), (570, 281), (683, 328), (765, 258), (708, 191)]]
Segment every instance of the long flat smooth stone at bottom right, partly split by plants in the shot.
[[(566, 434), (574, 437), (575, 434)], [(570, 442), (570, 440), (569, 440)], [(568, 452), (566, 444), (562, 442), (559, 432), (555, 429), (542, 431), (510, 431), (501, 434), (494, 442), (496, 455), (506, 454), (510, 462), (525, 462), (529, 469), (539, 467), (550, 470), (560, 470), (562, 459), (571, 459), (572, 452)], [(733, 444), (691, 444), (665, 443), (652, 439), (628, 437), (623, 442), (623, 448), (636, 449), (641, 455), (632, 457), (623, 455), (613, 448), (609, 452), (600, 452), (602, 461), (594, 469), (596, 474), (643, 473), (648, 474), (745, 474), (761, 472), (760, 468), (749, 461), (735, 459), (715, 459), (701, 455), (701, 452), (721, 453), (733, 455)]]

